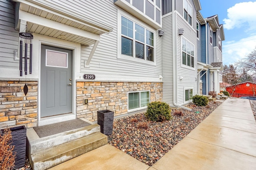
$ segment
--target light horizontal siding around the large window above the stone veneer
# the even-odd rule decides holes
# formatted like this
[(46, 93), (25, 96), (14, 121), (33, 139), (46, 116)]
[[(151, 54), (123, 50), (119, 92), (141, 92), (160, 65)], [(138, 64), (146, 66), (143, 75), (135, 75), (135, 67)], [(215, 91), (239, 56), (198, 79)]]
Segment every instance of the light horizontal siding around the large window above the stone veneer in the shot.
[[(92, 2), (92, 4), (94, 1)], [(90, 68), (85, 67), (84, 63), (87, 61), (92, 46), (82, 46), (81, 54), (81, 72), (87, 74), (101, 74), (111, 76), (139, 76), (141, 81), (144, 78), (158, 78), (162, 75), (162, 49), (161, 49), (161, 38), (158, 36), (158, 31), (155, 30), (156, 46), (156, 65), (138, 63), (136, 61), (130, 61), (126, 59), (118, 58), (118, 7), (113, 3), (112, 0), (102, 1), (101, 11), (98, 11), (97, 15), (101, 16), (102, 23), (108, 24), (113, 28), (109, 34), (102, 34), (100, 37), (100, 43), (98, 44), (96, 51), (90, 62)], [(92, 5), (91, 4), (91, 5)], [(97, 4), (94, 7), (98, 8)], [(129, 18), (128, 18), (129, 19)], [(131, 19), (131, 18), (130, 18)], [(130, 56), (127, 56), (130, 57)], [(108, 81), (111, 81), (111, 76)], [(135, 81), (135, 79), (134, 79)]]

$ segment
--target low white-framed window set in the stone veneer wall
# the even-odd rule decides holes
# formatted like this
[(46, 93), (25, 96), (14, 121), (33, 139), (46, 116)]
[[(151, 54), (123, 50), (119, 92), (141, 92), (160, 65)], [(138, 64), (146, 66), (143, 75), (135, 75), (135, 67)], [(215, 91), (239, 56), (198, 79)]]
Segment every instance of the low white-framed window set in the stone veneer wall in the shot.
[(144, 108), (150, 102), (150, 92), (129, 92), (128, 93), (128, 110)]

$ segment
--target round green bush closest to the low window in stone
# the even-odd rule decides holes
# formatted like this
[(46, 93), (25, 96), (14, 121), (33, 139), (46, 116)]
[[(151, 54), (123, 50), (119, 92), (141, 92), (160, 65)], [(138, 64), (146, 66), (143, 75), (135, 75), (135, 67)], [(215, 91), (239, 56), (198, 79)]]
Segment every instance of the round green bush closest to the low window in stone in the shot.
[(170, 106), (165, 102), (151, 102), (148, 104), (148, 109), (145, 116), (151, 121), (170, 120), (171, 116)]

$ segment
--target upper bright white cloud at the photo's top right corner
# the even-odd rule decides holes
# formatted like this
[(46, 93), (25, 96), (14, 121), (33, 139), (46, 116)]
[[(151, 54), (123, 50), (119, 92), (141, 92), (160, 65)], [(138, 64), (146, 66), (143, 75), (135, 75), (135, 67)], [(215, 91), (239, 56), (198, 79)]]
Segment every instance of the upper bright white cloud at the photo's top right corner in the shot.
[(225, 18), (224, 28), (233, 29), (247, 25), (246, 31), (256, 28), (256, 2), (242, 2), (228, 8), (228, 18)]

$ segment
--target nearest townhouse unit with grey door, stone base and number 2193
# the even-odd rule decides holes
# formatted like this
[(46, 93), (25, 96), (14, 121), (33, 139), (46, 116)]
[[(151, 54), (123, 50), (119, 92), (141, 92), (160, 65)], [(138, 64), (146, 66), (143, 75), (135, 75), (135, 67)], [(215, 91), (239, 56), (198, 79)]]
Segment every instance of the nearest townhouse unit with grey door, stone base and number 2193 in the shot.
[[(97, 121), (98, 110), (125, 115), (162, 100), (160, 0), (1, 0), (0, 5), (0, 128), (80, 117)], [(19, 37), (24, 32), (32, 33), (31, 42)], [(32, 74), (25, 75), (25, 59), (20, 74), (20, 40), (22, 57), (27, 42)]]

